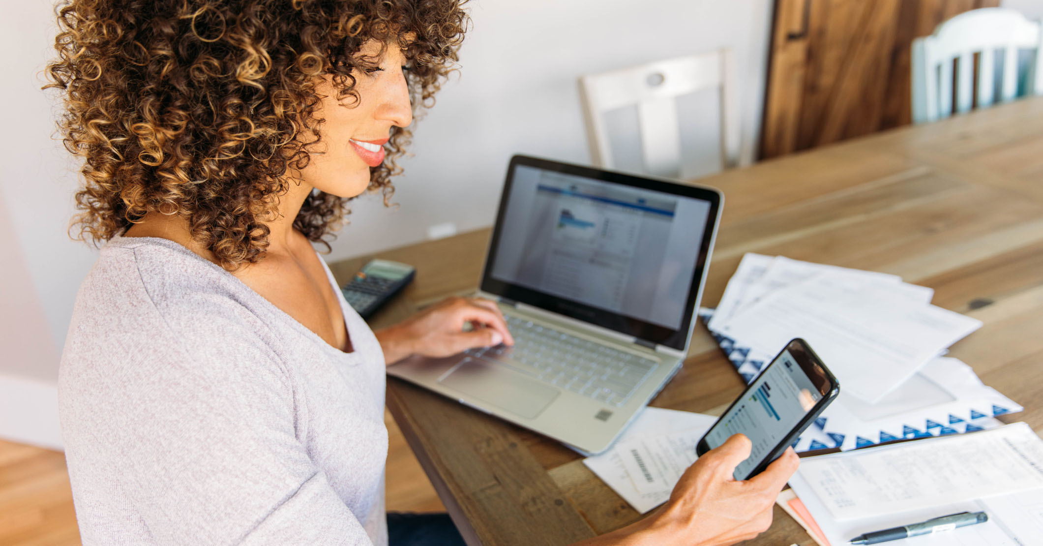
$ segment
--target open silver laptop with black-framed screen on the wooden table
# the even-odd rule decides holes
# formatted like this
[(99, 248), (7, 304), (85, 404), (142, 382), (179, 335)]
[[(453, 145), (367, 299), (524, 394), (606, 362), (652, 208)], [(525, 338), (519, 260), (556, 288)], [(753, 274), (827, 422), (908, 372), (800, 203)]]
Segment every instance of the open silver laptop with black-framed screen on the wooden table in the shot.
[(515, 345), (413, 355), (388, 374), (583, 453), (608, 449), (687, 353), (723, 198), (513, 157), (478, 295)]

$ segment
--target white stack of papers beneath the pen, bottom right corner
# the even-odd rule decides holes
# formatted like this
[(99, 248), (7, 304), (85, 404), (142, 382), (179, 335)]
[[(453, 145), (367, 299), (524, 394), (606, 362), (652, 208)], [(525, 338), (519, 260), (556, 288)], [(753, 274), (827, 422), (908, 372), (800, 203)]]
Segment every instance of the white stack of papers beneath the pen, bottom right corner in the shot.
[(779, 503), (820, 544), (985, 512), (987, 523), (888, 544), (1043, 545), (1043, 441), (1024, 423), (807, 457), (790, 484), (799, 502), (780, 496)]

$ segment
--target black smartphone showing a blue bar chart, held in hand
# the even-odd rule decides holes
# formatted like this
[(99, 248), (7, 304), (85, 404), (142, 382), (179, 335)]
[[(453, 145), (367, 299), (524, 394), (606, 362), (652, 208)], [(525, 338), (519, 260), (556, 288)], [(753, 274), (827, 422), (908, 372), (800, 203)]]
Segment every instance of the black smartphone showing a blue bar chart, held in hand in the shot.
[(710, 427), (696, 453), (702, 455), (742, 432), (753, 449), (733, 476), (749, 479), (777, 459), (840, 391), (836, 378), (807, 341), (793, 339)]

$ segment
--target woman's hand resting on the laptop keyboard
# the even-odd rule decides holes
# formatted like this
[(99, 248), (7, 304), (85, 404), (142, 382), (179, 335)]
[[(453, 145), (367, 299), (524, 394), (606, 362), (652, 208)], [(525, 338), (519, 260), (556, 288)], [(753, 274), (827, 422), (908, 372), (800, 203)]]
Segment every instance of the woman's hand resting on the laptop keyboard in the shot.
[(388, 364), (414, 353), (438, 358), (475, 347), (514, 345), (496, 304), (475, 298), (443, 300), (403, 323), (378, 331), (377, 339)]

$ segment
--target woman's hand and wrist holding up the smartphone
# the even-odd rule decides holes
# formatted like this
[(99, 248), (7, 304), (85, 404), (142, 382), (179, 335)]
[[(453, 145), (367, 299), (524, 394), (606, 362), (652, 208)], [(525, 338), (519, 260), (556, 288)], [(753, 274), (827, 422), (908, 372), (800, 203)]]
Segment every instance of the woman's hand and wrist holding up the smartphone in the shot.
[(684, 472), (670, 500), (648, 518), (580, 544), (686, 544), (724, 546), (750, 540), (772, 524), (772, 506), (800, 459), (786, 449), (760, 474), (746, 481), (732, 477), (750, 456), (743, 434), (706, 452)]

